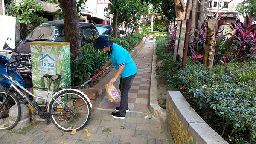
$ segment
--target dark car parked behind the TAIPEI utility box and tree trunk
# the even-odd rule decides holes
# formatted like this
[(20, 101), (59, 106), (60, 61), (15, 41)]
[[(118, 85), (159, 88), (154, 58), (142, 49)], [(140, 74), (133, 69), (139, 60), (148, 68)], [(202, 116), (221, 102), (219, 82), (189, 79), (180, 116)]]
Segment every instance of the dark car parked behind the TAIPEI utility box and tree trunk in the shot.
[[(99, 37), (99, 33), (93, 23), (79, 22), (79, 33), (81, 44), (90, 43)], [(64, 21), (49, 21), (36, 27), (26, 38), (15, 46), (12, 56), (14, 57), (20, 53), (30, 53), (29, 42), (32, 41), (66, 42)]]

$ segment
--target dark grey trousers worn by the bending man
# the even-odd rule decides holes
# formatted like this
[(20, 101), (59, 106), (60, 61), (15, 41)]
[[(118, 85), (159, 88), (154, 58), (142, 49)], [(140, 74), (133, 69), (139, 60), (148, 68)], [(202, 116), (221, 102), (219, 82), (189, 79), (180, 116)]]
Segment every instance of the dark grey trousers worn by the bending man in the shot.
[(135, 75), (131, 75), (126, 78), (120, 78), (120, 84), (119, 84), (119, 89), (121, 91), (121, 101), (120, 101), (120, 106), (119, 106), (119, 114), (121, 116), (125, 116), (126, 114), (126, 109), (129, 109), (128, 107), (128, 93), (131, 88), (131, 84), (135, 78)]

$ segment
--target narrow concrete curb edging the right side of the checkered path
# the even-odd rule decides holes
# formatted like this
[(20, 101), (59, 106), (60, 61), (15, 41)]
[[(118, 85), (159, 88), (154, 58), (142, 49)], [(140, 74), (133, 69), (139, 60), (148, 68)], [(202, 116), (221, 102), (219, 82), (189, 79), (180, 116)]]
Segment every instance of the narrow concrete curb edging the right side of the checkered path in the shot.
[(156, 58), (156, 47), (157, 44), (154, 44), (153, 52), (153, 61), (151, 69), (151, 84), (150, 84), (150, 93), (149, 93), (149, 111), (157, 118), (162, 121), (166, 121), (166, 110), (158, 105), (157, 101), (157, 79), (155, 78), (157, 58)]

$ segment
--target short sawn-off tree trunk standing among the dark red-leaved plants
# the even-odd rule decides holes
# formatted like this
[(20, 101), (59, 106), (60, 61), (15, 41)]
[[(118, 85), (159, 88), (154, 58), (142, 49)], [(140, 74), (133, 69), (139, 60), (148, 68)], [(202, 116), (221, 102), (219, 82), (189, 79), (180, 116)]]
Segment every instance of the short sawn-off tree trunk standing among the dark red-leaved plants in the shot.
[(212, 68), (214, 62), (217, 26), (218, 21), (214, 18), (208, 21), (203, 64), (205, 68), (209, 69)]

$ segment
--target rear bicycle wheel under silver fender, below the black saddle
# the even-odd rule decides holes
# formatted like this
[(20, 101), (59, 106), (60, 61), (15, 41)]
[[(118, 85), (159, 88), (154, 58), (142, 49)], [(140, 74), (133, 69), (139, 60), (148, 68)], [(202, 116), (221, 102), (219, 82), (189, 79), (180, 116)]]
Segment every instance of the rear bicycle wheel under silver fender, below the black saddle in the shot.
[[(55, 100), (56, 101), (55, 101)], [(83, 129), (90, 120), (89, 102), (79, 92), (66, 90), (56, 95), (49, 103), (49, 113), (53, 112), (53, 124), (61, 130), (71, 132)], [(55, 112), (61, 112), (54, 114)]]

